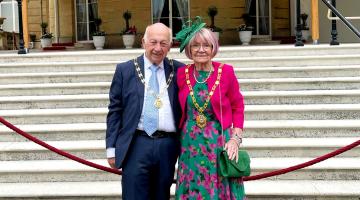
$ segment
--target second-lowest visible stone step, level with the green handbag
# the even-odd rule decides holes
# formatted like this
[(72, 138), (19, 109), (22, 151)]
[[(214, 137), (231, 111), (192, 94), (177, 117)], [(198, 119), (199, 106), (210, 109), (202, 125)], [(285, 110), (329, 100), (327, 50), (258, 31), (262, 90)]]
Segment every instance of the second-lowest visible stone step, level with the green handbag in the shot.
[[(252, 158), (251, 175), (280, 170), (313, 158)], [(105, 159), (89, 160), (108, 166)], [(357, 158), (330, 158), (321, 163), (269, 177), (267, 180), (360, 180), (360, 161)], [(104, 172), (72, 160), (2, 161), (0, 182), (91, 182), (118, 181), (121, 176)]]

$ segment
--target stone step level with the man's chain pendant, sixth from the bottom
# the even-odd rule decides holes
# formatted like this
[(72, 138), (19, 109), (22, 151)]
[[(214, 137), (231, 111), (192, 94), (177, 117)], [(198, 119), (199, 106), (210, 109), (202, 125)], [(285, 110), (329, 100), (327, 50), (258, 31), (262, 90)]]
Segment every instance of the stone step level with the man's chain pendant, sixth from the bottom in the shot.
[[(242, 91), (246, 105), (357, 104), (360, 90)], [(107, 107), (108, 94), (1, 96), (0, 110)]]

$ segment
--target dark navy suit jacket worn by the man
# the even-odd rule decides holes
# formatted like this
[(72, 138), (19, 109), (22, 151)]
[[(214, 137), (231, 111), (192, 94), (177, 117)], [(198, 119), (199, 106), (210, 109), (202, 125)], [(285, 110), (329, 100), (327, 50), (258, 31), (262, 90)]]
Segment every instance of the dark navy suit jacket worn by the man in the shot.
[[(144, 55), (139, 56), (137, 62), (144, 75)], [(175, 74), (173, 81), (168, 87), (169, 99), (176, 123), (175, 127), (178, 127), (181, 116), (176, 72), (177, 68), (183, 65), (183, 63), (174, 60)], [(167, 58), (164, 60), (164, 69), (167, 80), (172, 71)], [(117, 168), (121, 168), (139, 124), (144, 102), (144, 84), (137, 75), (133, 60), (120, 63), (116, 66), (109, 98), (109, 112), (106, 120), (106, 148), (115, 148), (115, 164)]]

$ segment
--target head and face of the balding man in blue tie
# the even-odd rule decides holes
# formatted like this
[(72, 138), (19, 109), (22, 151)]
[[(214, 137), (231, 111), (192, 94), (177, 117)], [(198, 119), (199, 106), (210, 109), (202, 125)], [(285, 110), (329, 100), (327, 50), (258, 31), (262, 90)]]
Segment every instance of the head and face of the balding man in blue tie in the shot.
[(166, 26), (154, 24), (149, 27), (147, 37), (142, 44), (146, 57), (154, 64), (159, 65), (170, 51), (170, 32)]

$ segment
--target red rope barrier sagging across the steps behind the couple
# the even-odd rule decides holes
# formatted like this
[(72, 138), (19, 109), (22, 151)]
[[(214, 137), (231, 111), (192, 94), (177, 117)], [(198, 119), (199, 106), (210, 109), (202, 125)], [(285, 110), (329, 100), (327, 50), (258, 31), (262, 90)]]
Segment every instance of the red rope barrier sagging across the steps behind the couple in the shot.
[[(39, 144), (40, 146), (43, 146), (43, 147), (49, 149), (50, 151), (53, 151), (53, 152), (55, 152), (55, 153), (57, 153), (59, 155), (62, 155), (64, 157), (66, 157), (66, 158), (69, 158), (71, 160), (74, 160), (76, 162), (82, 163), (84, 165), (87, 165), (87, 166), (90, 166), (90, 167), (93, 167), (93, 168), (96, 168), (96, 169), (100, 169), (100, 170), (107, 171), (107, 172), (114, 173), (114, 174), (118, 174), (118, 175), (122, 174), (122, 172), (117, 170), (117, 169), (105, 167), (105, 166), (102, 166), (102, 165), (99, 165), (99, 164), (84, 160), (82, 158), (74, 156), (74, 155), (72, 155), (70, 153), (67, 153), (65, 151), (62, 151), (60, 149), (57, 149), (57, 148), (55, 148), (55, 147), (53, 147), (53, 146), (39, 140), (39, 139), (37, 139), (36, 137), (22, 131), (21, 129), (19, 129), (16, 126), (12, 125), (11, 123), (6, 121), (2, 117), (0, 117), (0, 122), (3, 123), (8, 128), (15, 131), (16, 133), (22, 135), (23, 137), (25, 137), (25, 138)], [(358, 140), (358, 141), (356, 141), (354, 143), (351, 143), (351, 144), (349, 144), (347, 146), (344, 146), (344, 147), (342, 147), (340, 149), (337, 149), (337, 150), (335, 150), (333, 152), (330, 152), (328, 154), (325, 154), (323, 156), (320, 156), (318, 158), (310, 160), (308, 162), (301, 163), (301, 164), (298, 164), (298, 165), (294, 165), (294, 166), (291, 166), (291, 167), (288, 167), (288, 168), (285, 168), (285, 169), (280, 169), (280, 170), (275, 170), (275, 171), (271, 171), (271, 172), (266, 172), (266, 173), (263, 173), (263, 174), (257, 174), (257, 175), (254, 175), (254, 176), (244, 177), (243, 180), (244, 181), (258, 180), (258, 179), (268, 178), (268, 177), (271, 177), (271, 176), (277, 176), (277, 175), (285, 174), (285, 173), (295, 171), (295, 170), (298, 170), (298, 169), (302, 169), (302, 168), (308, 167), (310, 165), (314, 165), (314, 164), (316, 164), (318, 162), (324, 161), (326, 159), (329, 159), (331, 157), (334, 157), (336, 155), (339, 155), (341, 153), (344, 153), (345, 151), (349, 151), (350, 149), (353, 149), (353, 148), (355, 148), (355, 147), (357, 147), (359, 145), (360, 145), (360, 140)]]

